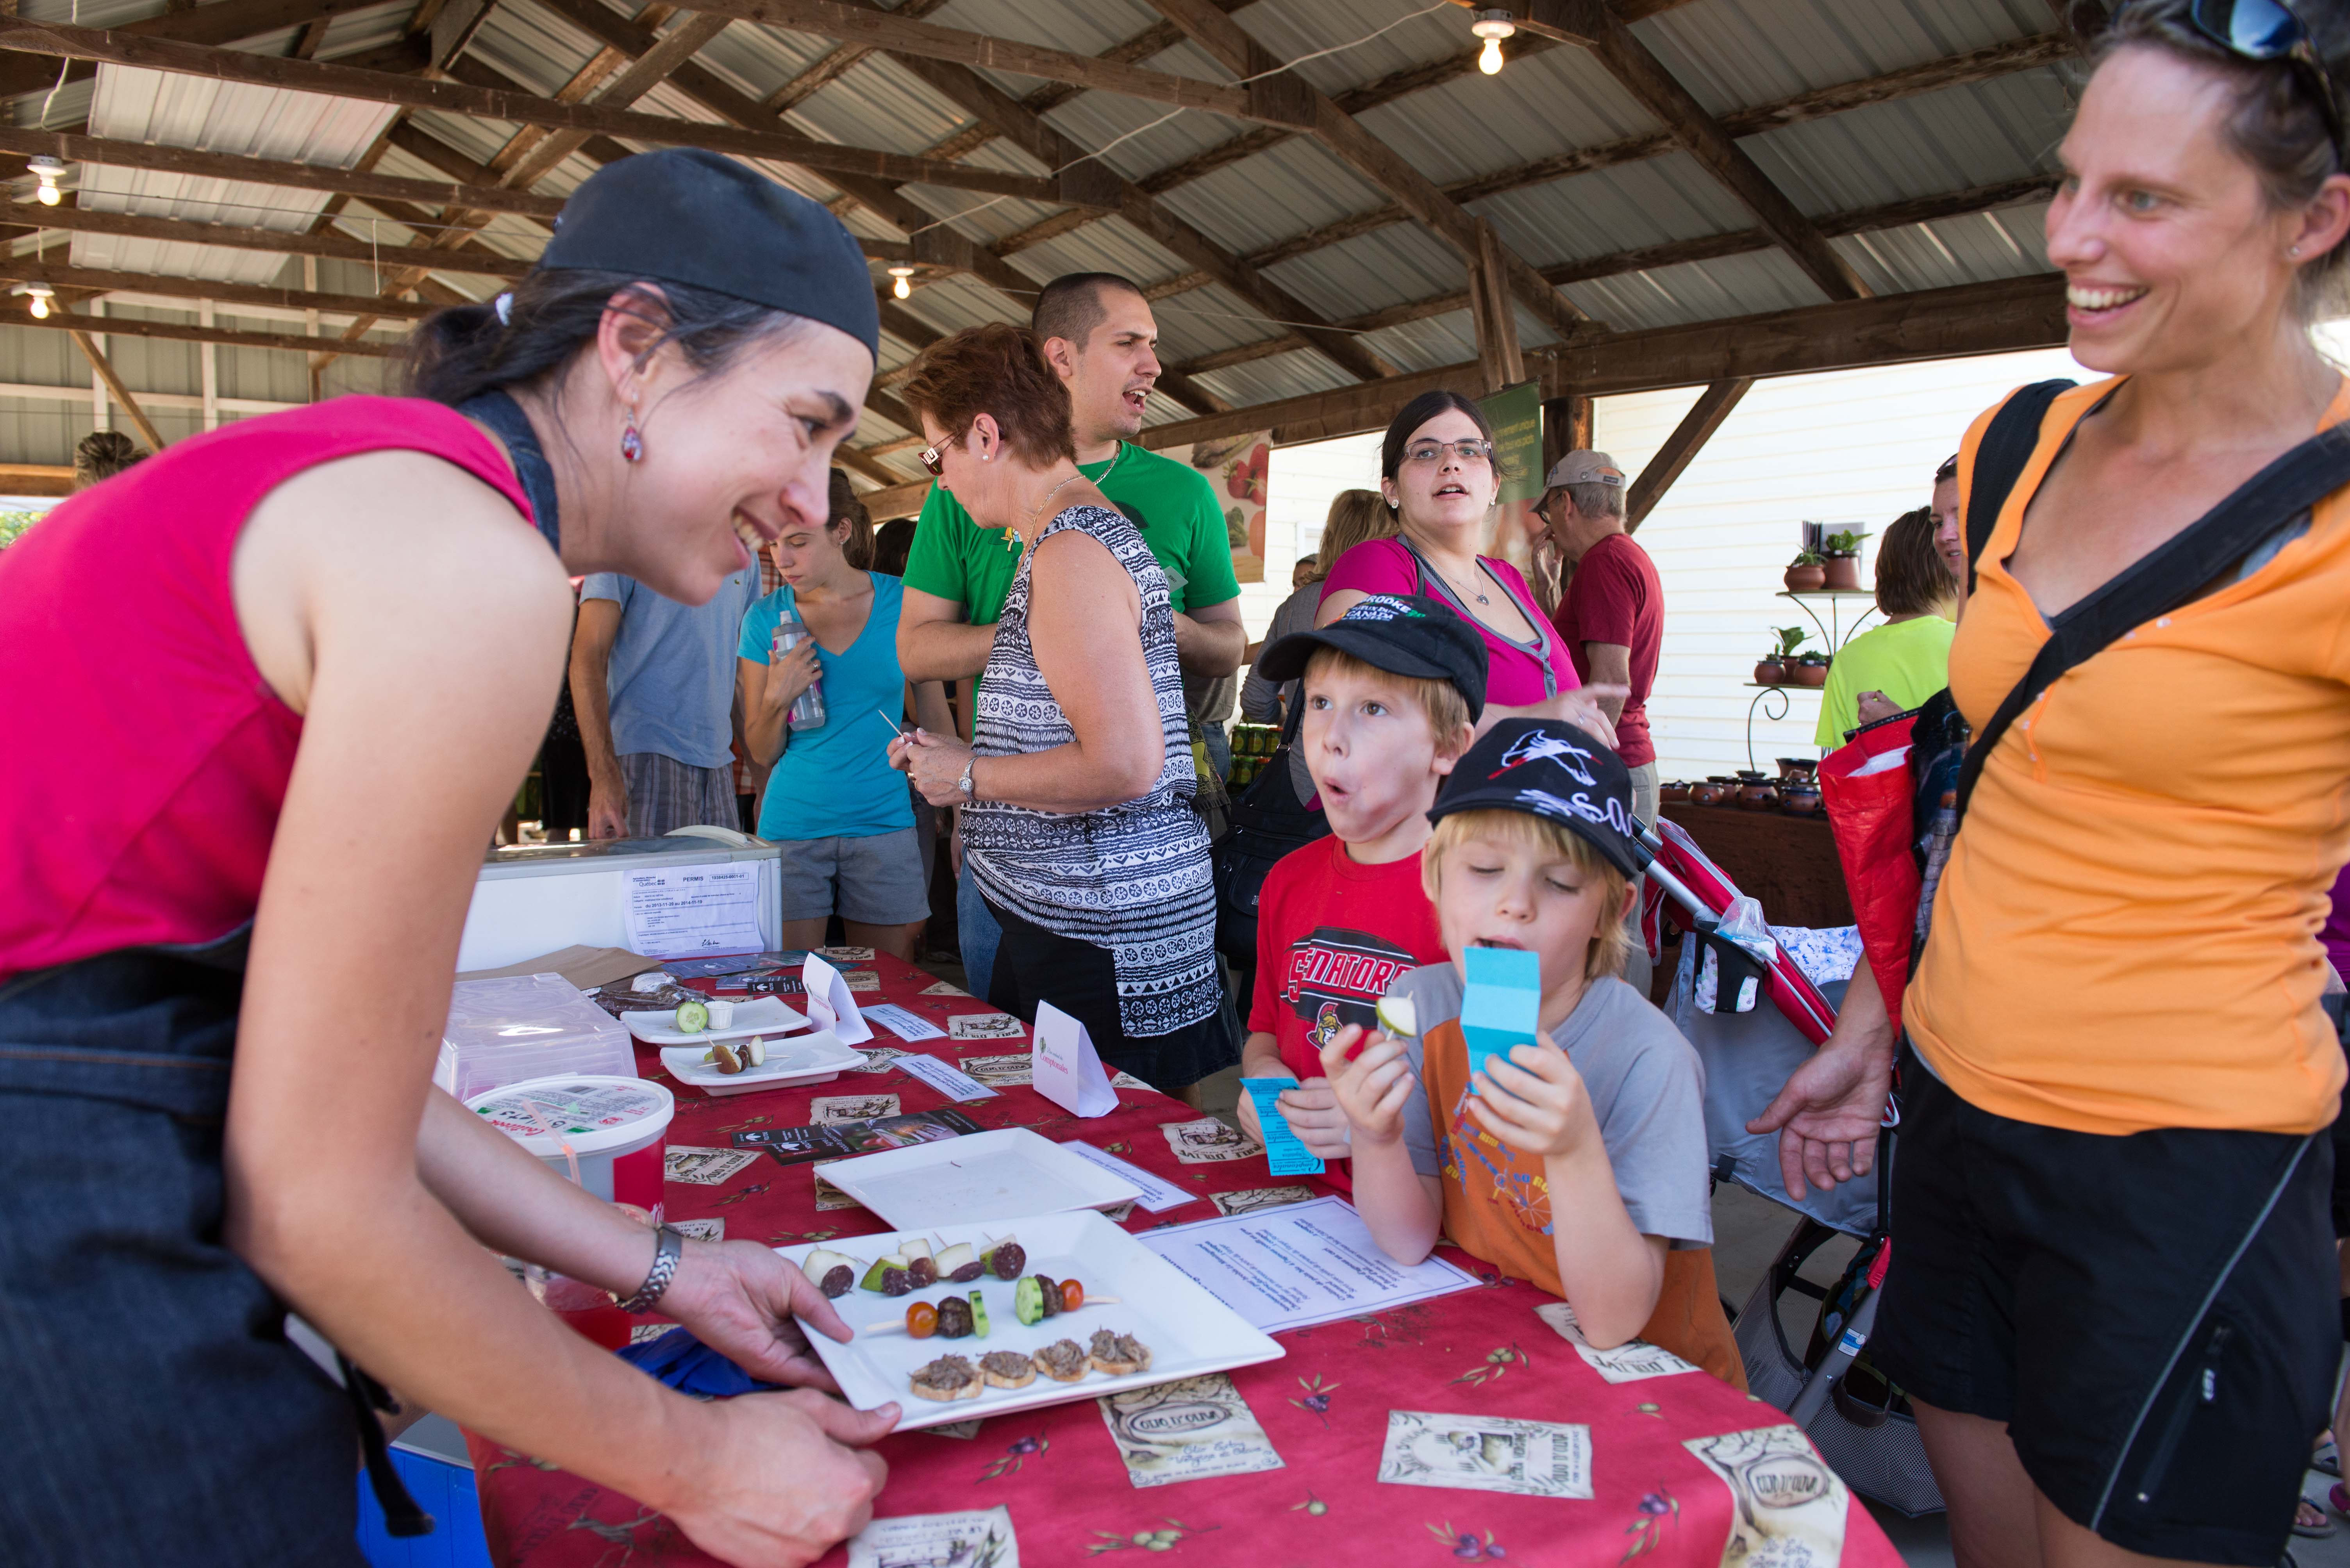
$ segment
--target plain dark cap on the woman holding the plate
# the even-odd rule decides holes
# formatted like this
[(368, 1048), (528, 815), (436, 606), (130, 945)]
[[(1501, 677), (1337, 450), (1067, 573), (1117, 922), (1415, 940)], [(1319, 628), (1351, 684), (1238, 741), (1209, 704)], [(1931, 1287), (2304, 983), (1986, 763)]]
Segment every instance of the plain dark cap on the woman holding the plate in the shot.
[(820, 202), (703, 148), (660, 148), (590, 174), (543, 268), (632, 272), (839, 326), (881, 354), (881, 303), (855, 237)]

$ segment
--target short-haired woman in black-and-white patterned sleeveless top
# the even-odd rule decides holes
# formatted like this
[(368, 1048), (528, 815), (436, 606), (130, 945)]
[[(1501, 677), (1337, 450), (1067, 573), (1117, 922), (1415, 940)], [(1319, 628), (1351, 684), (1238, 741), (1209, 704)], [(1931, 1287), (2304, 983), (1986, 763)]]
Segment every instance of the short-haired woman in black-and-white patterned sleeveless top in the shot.
[(919, 728), (893, 765), (961, 807), (964, 861), (1003, 927), (987, 1000), (1086, 1026), (1095, 1054), (1170, 1094), (1231, 1066), (1215, 974), (1208, 831), (1168, 580), (1076, 469), (1069, 392), (1018, 326), (924, 350), (898, 392), (924, 467), (1020, 549), (973, 744)]

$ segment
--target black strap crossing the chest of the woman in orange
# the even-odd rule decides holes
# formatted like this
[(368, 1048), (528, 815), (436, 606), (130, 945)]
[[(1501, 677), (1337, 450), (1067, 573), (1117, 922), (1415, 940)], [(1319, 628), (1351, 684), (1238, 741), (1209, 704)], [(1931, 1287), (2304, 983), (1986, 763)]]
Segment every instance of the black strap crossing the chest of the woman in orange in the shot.
[(2334, 425), (2263, 467), (2181, 535), (2059, 615), (2033, 667), (1967, 749), (1967, 761), (1958, 770), (1960, 815), (1967, 810), (1974, 782), (1983, 777), (1983, 758), (2061, 674), (2084, 664), (2131, 627), (2193, 603), (2207, 582), (2242, 561), (2280, 523), (2308, 512), (2345, 484), (2350, 484), (2350, 425)]

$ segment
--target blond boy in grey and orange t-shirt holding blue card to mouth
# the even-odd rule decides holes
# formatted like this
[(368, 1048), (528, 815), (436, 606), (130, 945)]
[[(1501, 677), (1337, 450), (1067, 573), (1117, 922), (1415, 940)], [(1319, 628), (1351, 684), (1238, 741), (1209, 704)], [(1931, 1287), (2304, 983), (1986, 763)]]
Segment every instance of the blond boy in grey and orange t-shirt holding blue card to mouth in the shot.
[[(1563, 1296), (1593, 1345), (1645, 1338), (1744, 1385), (1713, 1284), (1704, 1070), (1614, 979), (1645, 864), (1624, 763), (1567, 723), (1506, 718), (1429, 817), (1422, 885), (1452, 962), (1389, 988), (1386, 1033), (1321, 1054), (1356, 1211), (1398, 1263), (1445, 1235)], [(1459, 1023), (1473, 948), (1537, 958), (1532, 1028), (1492, 1056)]]

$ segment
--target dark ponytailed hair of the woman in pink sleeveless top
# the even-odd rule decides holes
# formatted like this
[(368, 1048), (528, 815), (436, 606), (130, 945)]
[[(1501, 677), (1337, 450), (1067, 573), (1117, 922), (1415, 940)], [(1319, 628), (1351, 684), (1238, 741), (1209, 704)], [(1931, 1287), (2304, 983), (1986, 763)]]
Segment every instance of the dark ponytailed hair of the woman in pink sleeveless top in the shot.
[(498, 305), (437, 310), (409, 338), (407, 387), (435, 404), (463, 404), (482, 392), (538, 380), (595, 343), (604, 310), (627, 291), (637, 312), (663, 333), (646, 350), (674, 343), (698, 373), (724, 371), (752, 343), (797, 333), (806, 317), (752, 305), (714, 289), (653, 282), (627, 272), (538, 268)]

